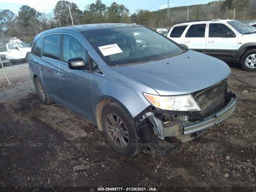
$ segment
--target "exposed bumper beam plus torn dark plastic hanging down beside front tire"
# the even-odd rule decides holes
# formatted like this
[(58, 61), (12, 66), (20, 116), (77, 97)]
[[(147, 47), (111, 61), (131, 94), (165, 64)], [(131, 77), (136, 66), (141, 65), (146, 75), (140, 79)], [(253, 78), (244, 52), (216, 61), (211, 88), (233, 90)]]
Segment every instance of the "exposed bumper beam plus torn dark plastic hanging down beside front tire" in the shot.
[[(164, 141), (166, 137), (176, 137), (181, 142), (188, 142), (204, 131), (206, 131), (211, 126), (219, 124), (232, 112), (234, 112), (236, 108), (236, 94), (229, 93), (230, 101), (218, 112), (210, 115), (206, 118), (202, 118), (202, 120), (195, 120), (191, 121), (191, 118), (188, 114), (161, 114), (162, 116), (169, 116), (167, 121), (163, 121), (163, 119), (159, 118), (159, 113), (156, 113), (156, 110), (150, 110), (149, 112), (144, 113), (140, 122), (148, 119), (150, 125), (153, 127), (154, 130), (154, 140), (157, 140), (158, 147), (149, 145), (150, 150), (148, 148), (144, 149), (143, 151), (146, 153), (151, 154), (162, 154), (168, 155), (172, 151), (176, 150), (178, 146), (167, 144), (168, 142)], [(152, 138), (151, 138), (152, 140)], [(166, 147), (167, 146), (167, 147)]]

